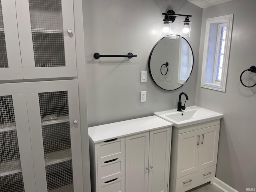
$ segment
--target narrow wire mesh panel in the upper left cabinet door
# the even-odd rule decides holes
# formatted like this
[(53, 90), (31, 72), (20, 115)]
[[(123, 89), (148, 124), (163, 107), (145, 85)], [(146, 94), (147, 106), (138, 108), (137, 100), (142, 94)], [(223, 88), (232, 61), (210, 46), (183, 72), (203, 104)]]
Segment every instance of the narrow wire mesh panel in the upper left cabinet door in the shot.
[(1, 0), (0, 0), (0, 68), (8, 68)]

